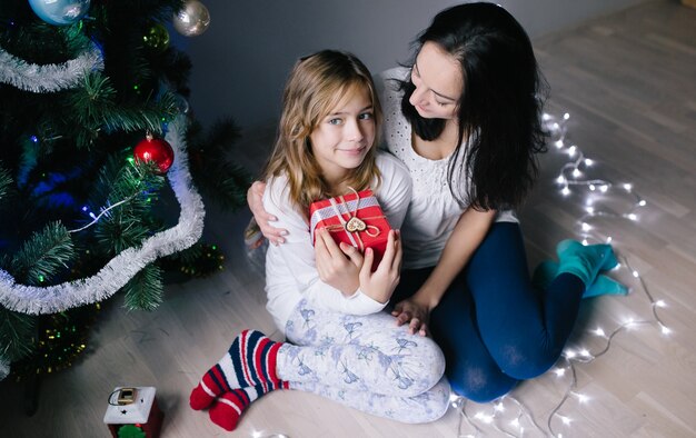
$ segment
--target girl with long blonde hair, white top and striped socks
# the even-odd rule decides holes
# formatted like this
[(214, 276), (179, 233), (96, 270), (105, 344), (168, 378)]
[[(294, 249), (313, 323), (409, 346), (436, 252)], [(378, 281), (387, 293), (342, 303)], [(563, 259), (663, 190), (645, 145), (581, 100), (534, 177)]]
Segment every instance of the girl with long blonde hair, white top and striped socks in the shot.
[[(411, 197), (407, 170), (377, 152), (381, 121), (375, 83), (355, 56), (324, 50), (300, 59), (287, 80), (276, 145), (265, 169), (264, 207), (290, 232), (266, 259), (267, 309), (287, 342), (245, 330), (193, 389), (225, 429), (275, 389), (314, 392), (404, 422), (441, 417), (449, 401), (445, 360), (429, 338), (409, 335), (382, 309), (398, 280), (397, 230)], [(360, 253), (319, 230), (312, 246), (308, 209), (316, 200), (371, 188), (392, 230), (375, 270)]]

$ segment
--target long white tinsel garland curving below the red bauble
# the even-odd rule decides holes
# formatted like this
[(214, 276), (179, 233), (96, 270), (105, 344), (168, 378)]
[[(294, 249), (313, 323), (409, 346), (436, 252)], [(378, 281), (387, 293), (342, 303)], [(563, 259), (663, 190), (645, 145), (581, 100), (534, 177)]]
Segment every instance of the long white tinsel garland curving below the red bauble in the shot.
[(169, 182), (181, 207), (179, 223), (146, 239), (139, 248), (128, 248), (111, 259), (97, 275), (56, 286), (18, 285), (0, 269), (0, 305), (30, 315), (54, 313), (102, 301), (122, 288), (136, 273), (160, 257), (191, 247), (203, 231), (206, 211), (188, 169), (183, 141), (185, 118), (169, 125), (167, 141), (175, 150)]

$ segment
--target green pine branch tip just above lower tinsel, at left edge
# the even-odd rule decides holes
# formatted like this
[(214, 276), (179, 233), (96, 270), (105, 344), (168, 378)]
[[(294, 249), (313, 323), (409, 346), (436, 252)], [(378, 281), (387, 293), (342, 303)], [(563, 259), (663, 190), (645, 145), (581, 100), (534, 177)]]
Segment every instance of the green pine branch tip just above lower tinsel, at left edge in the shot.
[(9, 272), (17, 282), (50, 282), (74, 257), (72, 239), (60, 222), (50, 222), (34, 232), (12, 257)]

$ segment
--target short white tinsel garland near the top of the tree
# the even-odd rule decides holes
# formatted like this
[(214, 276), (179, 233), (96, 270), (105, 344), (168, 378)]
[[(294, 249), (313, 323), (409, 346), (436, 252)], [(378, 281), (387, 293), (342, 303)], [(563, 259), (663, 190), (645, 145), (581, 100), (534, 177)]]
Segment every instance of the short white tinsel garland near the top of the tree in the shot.
[(91, 70), (103, 70), (101, 51), (93, 43), (76, 59), (46, 66), (28, 63), (0, 48), (0, 82), (26, 91), (52, 92), (72, 88)]

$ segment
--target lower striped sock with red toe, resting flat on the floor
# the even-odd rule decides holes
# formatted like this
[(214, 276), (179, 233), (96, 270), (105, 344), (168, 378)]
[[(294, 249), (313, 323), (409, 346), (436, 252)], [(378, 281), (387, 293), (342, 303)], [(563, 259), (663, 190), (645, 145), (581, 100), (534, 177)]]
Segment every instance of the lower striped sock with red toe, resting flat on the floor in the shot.
[(232, 389), (222, 394), (210, 407), (210, 420), (225, 430), (237, 428), (239, 417), (249, 405), (262, 395), (275, 389), (288, 389), (287, 381), (257, 385), (248, 388)]

